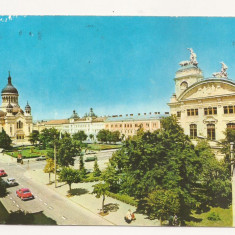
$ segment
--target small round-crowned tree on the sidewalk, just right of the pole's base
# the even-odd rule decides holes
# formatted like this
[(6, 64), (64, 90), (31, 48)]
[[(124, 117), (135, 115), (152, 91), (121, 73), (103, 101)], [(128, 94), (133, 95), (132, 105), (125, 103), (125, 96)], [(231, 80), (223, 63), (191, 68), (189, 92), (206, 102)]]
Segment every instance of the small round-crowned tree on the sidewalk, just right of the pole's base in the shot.
[(71, 192), (72, 183), (79, 183), (81, 181), (80, 172), (70, 167), (64, 167), (60, 171), (59, 179), (69, 185), (69, 191)]

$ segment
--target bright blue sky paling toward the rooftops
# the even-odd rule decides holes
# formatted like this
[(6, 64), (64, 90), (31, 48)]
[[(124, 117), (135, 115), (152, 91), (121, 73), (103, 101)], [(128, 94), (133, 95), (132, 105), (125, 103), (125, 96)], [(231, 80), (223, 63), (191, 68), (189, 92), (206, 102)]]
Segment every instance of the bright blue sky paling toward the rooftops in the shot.
[(8, 71), (34, 120), (167, 112), (179, 62), (235, 77), (235, 18), (0, 17), (0, 89)]

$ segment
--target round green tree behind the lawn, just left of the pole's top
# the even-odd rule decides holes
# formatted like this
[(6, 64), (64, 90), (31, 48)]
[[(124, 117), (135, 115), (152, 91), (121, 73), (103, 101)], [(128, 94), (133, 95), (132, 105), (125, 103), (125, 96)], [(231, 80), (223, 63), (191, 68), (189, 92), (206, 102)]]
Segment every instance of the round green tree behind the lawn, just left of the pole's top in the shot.
[(39, 134), (39, 143), (43, 149), (53, 148), (54, 141), (59, 139), (60, 133), (55, 128), (44, 129)]

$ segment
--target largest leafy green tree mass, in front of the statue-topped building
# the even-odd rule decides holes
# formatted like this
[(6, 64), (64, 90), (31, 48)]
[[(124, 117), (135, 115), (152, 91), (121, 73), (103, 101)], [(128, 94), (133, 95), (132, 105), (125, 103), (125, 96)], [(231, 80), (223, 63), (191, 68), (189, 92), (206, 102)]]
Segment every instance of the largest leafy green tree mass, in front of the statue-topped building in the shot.
[(114, 187), (112, 190), (137, 199), (143, 212), (148, 207), (146, 198), (157, 186), (167, 192), (177, 190), (177, 215), (184, 224), (196, 206), (194, 194), (201, 162), (175, 117), (163, 118), (161, 127), (153, 133), (139, 131), (127, 139), (110, 159), (109, 170), (104, 172), (109, 177), (104, 180)]

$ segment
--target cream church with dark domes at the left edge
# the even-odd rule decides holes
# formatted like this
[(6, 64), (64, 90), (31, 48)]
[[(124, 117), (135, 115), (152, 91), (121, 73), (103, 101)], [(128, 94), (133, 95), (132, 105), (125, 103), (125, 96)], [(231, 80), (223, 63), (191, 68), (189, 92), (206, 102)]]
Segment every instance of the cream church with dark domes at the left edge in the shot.
[(28, 144), (28, 137), (33, 129), (31, 107), (27, 103), (25, 110), (18, 103), (19, 93), (12, 85), (9, 72), (8, 83), (2, 89), (0, 107), (0, 130), (5, 130), (13, 144)]

